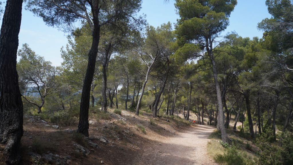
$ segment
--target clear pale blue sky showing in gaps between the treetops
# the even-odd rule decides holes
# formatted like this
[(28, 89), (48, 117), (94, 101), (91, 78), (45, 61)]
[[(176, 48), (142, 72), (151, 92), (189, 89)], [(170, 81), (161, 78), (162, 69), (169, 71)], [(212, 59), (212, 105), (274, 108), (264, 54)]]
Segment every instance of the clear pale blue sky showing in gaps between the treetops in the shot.
[[(168, 4), (165, 4), (163, 0), (143, 0), (140, 13), (146, 14), (148, 23), (155, 27), (168, 21), (176, 23), (179, 16), (176, 14), (174, 2), (174, 0), (170, 0)], [(230, 25), (222, 35), (236, 31), (242, 37), (257, 36), (262, 38), (263, 32), (258, 31), (257, 23), (264, 18), (270, 18), (265, 0), (238, 0), (237, 6), (229, 18)], [(42, 18), (33, 16), (23, 7), (19, 48), (22, 47), (22, 44), (28, 43), (38, 55), (45, 57), (45, 60), (49, 60), (57, 66), (62, 62), (60, 49), (62, 46), (65, 48), (67, 35), (57, 28), (47, 26)]]

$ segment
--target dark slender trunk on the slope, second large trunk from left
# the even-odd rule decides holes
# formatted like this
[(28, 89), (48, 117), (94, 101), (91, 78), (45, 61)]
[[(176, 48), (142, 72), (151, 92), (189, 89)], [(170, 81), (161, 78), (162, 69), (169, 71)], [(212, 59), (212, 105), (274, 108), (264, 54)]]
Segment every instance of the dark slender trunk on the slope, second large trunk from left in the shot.
[[(93, 3), (94, 11), (98, 11), (98, 2)], [(93, 75), (95, 73), (96, 58), (98, 53), (98, 46), (100, 41), (100, 26), (98, 12), (93, 14), (93, 40), (91, 50), (88, 53), (88, 67), (86, 69), (86, 76), (84, 78), (84, 85), (81, 92), (79, 124), (77, 132), (88, 137), (88, 108), (90, 104), (91, 83), (93, 82)], [(104, 99), (104, 98), (103, 98)], [(107, 100), (107, 98), (105, 98)]]

